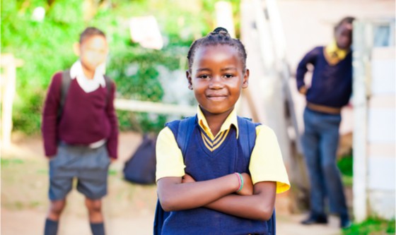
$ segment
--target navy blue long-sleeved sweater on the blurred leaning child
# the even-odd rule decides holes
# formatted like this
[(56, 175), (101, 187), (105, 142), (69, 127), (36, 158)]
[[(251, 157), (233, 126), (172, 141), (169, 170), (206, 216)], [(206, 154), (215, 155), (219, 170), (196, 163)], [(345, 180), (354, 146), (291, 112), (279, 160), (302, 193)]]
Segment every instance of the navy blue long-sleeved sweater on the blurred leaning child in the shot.
[(297, 68), (297, 89), (305, 85), (304, 76), (308, 71), (307, 65), (312, 64), (313, 77), (308, 88), (306, 99), (313, 104), (341, 108), (348, 104), (352, 93), (352, 53), (330, 65), (325, 59), (324, 47), (315, 47), (305, 54)]

